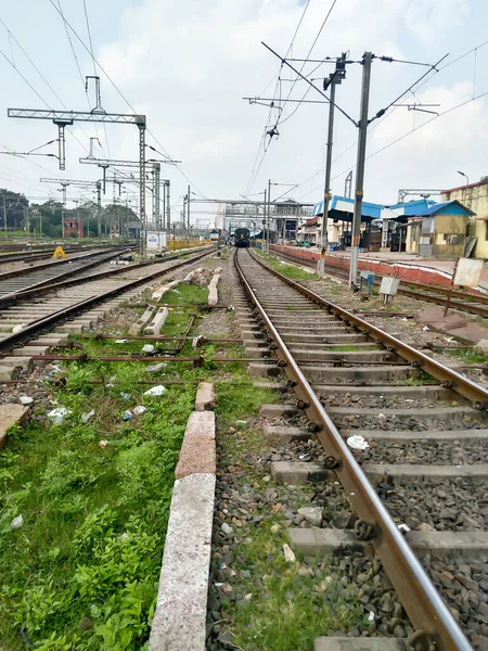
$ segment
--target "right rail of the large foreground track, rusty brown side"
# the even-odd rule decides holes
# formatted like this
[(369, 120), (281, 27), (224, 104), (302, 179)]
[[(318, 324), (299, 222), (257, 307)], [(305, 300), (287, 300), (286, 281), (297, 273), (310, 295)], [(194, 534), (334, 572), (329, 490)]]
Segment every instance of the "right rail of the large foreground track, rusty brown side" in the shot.
[(313, 301), (313, 303), (317, 305), (322, 305), (325, 307), (329, 314), (335, 314), (346, 324), (373, 339), (376, 344), (385, 346), (390, 353), (396, 353), (400, 357), (403, 357), (407, 361), (410, 361), (412, 366), (422, 369), (426, 373), (429, 373), (436, 380), (439, 380), (445, 388), (451, 388), (452, 391), (455, 391), (462, 395), (464, 398), (471, 400), (476, 409), (488, 409), (488, 390), (486, 390), (484, 386), (480, 386), (468, 378), (461, 375), (461, 373), (450, 369), (440, 361), (432, 359), (421, 350), (413, 348), (409, 344), (403, 343), (391, 334), (388, 334), (380, 328), (376, 328), (376, 326), (364, 321), (364, 319), (361, 319), (356, 314), (339, 307), (335, 303), (331, 303), (330, 301), (322, 298), (300, 283), (286, 278), (283, 276), (283, 273), (280, 273), (280, 271), (272, 269), (261, 261), (256, 254), (253, 253), (251, 255), (259, 265), (280, 278), (283, 282), (304, 294), (304, 296), (310, 298), (310, 301)]

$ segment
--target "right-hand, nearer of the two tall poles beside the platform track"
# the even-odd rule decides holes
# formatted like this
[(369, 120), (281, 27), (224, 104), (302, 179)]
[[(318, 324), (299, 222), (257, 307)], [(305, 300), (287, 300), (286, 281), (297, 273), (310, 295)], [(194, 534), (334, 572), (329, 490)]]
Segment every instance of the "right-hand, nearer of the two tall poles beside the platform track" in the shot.
[(349, 267), (349, 288), (355, 289), (358, 279), (359, 241), (361, 238), (362, 197), (364, 194), (364, 159), (368, 135), (368, 107), (370, 102), (370, 81), (372, 52), (362, 58), (361, 118), (359, 122), (358, 158), (356, 164), (355, 210), (352, 215), (351, 251)]

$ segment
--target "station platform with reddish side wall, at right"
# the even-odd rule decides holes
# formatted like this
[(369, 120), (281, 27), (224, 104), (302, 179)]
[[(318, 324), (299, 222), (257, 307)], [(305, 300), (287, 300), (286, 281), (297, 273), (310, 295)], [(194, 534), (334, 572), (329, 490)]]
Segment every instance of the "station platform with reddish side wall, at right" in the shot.
[[(293, 255), (304, 259), (319, 259), (320, 248), (301, 248), (299, 246), (277, 246), (271, 245), (271, 250), (290, 250)], [(350, 251), (328, 251), (326, 264), (337, 269), (348, 269)], [(359, 270), (374, 271), (382, 276), (398, 276), (406, 282), (423, 282), (427, 284), (438, 284), (449, 286), (454, 269), (455, 260), (439, 260), (435, 258), (422, 258), (408, 253), (377, 252), (360, 253)], [(478, 288), (480, 292), (488, 293), (488, 266), (481, 272), (481, 279)]]

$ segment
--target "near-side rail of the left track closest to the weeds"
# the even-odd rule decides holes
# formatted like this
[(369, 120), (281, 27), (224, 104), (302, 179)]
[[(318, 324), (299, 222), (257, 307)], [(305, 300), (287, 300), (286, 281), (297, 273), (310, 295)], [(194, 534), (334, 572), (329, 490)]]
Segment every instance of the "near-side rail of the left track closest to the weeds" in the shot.
[(133, 288), (139, 286), (140, 284), (144, 284), (145, 282), (157, 278), (158, 276), (164, 276), (165, 273), (174, 271), (175, 269), (179, 269), (180, 267), (184, 267), (185, 265), (190, 265), (191, 263), (200, 260), (201, 258), (210, 255), (210, 253), (211, 251), (205, 251), (204, 253), (201, 253), (200, 255), (196, 255), (190, 259), (176, 263), (167, 269), (154, 271), (153, 273), (149, 273), (147, 276), (144, 276), (144, 278), (140, 278), (138, 280), (131, 280), (121, 286), (115, 288), (114, 290), (108, 290), (107, 292), (98, 294), (97, 296), (90, 296), (89, 298), (80, 301), (79, 303), (63, 308), (62, 310), (48, 315), (47, 317), (43, 317), (34, 323), (29, 323), (29, 326), (27, 326), (24, 330), (9, 334), (4, 339), (0, 340), (0, 356), (5, 355), (5, 353), (17, 345), (27, 343), (30, 339), (33, 339), (34, 335), (51, 327), (53, 323), (64, 321), (66, 318), (77, 314), (78, 311), (82, 311), (85, 308), (92, 307), (93, 305), (106, 301), (112, 296), (123, 294)]

